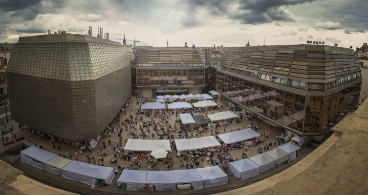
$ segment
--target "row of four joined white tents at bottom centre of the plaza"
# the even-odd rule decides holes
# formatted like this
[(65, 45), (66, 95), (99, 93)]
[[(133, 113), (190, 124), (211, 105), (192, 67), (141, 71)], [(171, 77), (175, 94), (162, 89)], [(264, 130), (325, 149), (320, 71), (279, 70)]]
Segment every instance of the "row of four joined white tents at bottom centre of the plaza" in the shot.
[(176, 184), (190, 183), (193, 189), (218, 186), (228, 183), (227, 175), (218, 166), (174, 170), (138, 171), (124, 170), (117, 180), (118, 187), (127, 184), (127, 190), (143, 190), (146, 184), (154, 185), (157, 191), (176, 190)]

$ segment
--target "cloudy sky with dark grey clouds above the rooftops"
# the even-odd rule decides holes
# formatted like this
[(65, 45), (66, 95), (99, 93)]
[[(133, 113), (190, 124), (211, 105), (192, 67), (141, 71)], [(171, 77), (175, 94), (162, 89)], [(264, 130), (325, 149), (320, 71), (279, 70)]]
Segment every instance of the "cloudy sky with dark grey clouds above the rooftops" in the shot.
[[(155, 47), (368, 42), (367, 0), (0, 0), (0, 42), (63, 30)], [(120, 41), (120, 40), (118, 40)], [(132, 42), (128, 41), (129, 44)]]

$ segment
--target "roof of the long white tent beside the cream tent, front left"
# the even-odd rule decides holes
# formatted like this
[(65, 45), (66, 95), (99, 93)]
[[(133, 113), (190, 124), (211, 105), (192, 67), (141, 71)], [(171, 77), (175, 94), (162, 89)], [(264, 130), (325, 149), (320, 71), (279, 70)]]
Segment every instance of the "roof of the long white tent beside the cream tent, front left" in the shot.
[(110, 172), (113, 172), (113, 168), (73, 160), (63, 168), (63, 171), (105, 180)]

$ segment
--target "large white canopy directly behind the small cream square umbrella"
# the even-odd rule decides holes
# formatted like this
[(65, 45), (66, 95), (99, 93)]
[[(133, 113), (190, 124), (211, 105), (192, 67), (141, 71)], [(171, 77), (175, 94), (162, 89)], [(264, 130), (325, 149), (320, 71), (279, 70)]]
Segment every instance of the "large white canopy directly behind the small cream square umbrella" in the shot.
[(152, 151), (154, 149), (164, 149), (171, 151), (169, 139), (128, 139), (125, 144), (124, 150), (128, 151)]

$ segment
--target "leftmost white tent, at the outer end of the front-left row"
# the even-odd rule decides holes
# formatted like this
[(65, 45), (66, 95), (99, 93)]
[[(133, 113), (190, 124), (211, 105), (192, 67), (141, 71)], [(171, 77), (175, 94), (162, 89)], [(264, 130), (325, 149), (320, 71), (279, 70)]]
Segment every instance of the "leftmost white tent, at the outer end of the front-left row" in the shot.
[(45, 169), (45, 163), (57, 155), (37, 148), (35, 146), (28, 147), (21, 151), (21, 160), (39, 169)]

